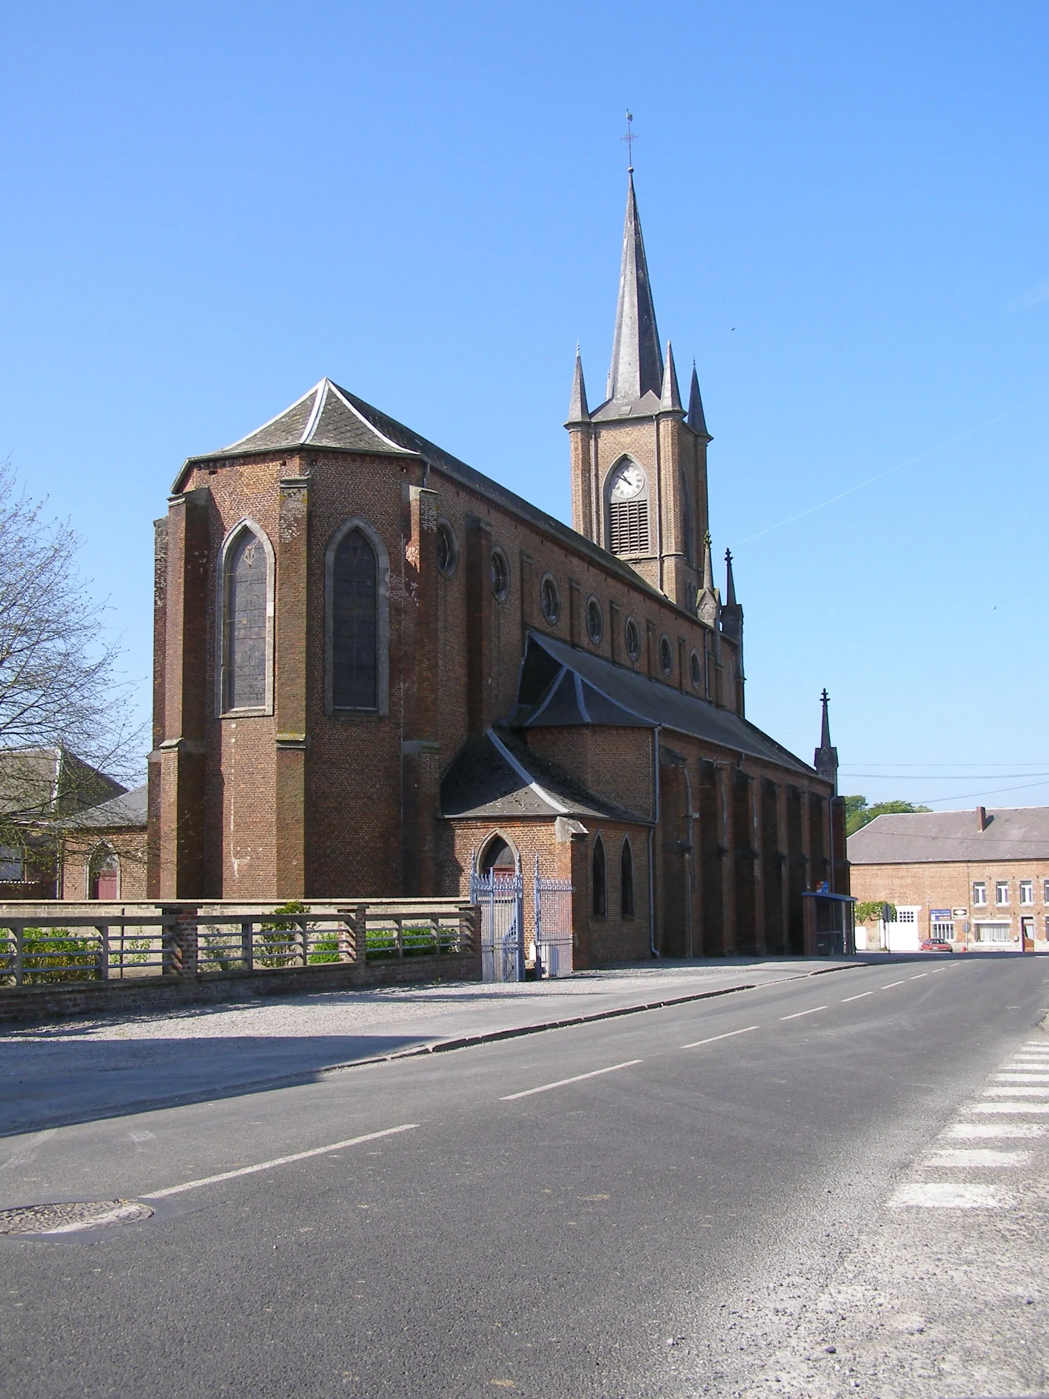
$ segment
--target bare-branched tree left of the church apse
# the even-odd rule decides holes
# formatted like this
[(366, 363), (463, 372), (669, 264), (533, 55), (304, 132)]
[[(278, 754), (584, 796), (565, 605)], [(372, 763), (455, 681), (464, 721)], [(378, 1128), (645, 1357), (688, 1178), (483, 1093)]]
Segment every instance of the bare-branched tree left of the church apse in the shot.
[[(0, 463), (0, 841), (11, 825), (112, 796), (137, 776), (143, 729), (108, 606), (80, 574), (81, 540)], [(57, 750), (45, 790), (43, 750)], [(69, 758), (69, 761), (66, 761)], [(80, 760), (80, 761), (77, 761)], [(99, 782), (108, 774), (113, 782)], [(59, 790), (59, 788), (63, 790)], [(22, 844), (18, 841), (17, 844)]]

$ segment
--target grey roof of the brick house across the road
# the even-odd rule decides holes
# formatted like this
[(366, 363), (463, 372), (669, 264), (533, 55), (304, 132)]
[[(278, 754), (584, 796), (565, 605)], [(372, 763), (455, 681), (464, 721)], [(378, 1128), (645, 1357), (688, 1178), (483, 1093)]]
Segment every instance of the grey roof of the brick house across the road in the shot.
[(968, 811), (877, 816), (849, 837), (852, 865), (1049, 859), (1049, 806), (987, 807), (986, 828)]

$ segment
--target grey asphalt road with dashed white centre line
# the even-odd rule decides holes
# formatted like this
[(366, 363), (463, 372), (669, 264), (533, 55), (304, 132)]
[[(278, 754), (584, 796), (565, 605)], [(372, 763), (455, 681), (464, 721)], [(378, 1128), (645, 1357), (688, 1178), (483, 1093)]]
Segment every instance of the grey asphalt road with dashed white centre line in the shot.
[(0, 1391), (740, 1393), (1038, 1032), (1048, 974), (862, 967), (7, 1137), (0, 1209), (157, 1213), (0, 1240)]

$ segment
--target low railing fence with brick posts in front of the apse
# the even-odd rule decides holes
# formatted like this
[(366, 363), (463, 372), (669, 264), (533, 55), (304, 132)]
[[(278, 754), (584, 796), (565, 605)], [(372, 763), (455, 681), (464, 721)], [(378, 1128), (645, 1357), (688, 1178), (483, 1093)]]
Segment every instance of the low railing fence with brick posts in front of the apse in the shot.
[[(10, 909), (11, 905), (8, 905)], [(0, 985), (262, 972), (467, 954), (477, 909), (457, 900), (383, 900), (305, 912), (235, 905), (0, 908)]]

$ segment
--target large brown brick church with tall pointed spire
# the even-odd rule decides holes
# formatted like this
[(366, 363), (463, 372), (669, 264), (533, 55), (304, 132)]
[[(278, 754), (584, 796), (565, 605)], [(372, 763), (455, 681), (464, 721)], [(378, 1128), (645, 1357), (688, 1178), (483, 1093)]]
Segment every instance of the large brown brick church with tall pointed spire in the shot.
[(572, 529), (330, 379), (186, 460), (157, 522), (154, 898), (571, 877), (576, 965), (800, 953), (848, 893), (836, 755), (744, 712), (706, 431), (629, 176), (607, 389), (576, 354)]

